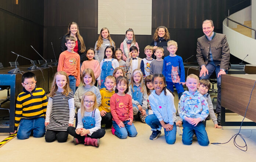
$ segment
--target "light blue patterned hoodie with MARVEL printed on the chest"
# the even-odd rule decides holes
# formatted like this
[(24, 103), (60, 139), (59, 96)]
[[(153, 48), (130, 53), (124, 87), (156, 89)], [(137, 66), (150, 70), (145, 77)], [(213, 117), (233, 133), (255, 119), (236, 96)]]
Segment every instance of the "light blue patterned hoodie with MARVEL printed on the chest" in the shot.
[(188, 117), (200, 118), (203, 121), (209, 115), (209, 107), (205, 97), (198, 91), (193, 94), (185, 91), (179, 99), (178, 112), (184, 120)]

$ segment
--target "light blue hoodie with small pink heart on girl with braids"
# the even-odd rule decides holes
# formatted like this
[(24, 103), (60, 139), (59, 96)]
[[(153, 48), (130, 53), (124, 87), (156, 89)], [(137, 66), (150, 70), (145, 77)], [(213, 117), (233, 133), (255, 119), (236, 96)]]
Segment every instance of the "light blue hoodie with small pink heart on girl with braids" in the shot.
[(149, 95), (150, 106), (153, 110), (153, 113), (159, 119), (159, 121), (164, 121), (165, 123), (169, 123), (173, 125), (176, 121), (176, 108), (174, 106), (174, 97), (171, 92), (167, 90), (166, 95), (164, 95), (164, 91), (160, 95), (156, 94), (154, 90)]

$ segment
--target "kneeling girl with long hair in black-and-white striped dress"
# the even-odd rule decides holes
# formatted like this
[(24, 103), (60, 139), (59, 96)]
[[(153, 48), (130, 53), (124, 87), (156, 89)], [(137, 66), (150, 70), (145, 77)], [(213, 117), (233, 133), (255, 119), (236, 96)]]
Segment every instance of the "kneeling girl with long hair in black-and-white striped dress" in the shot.
[(46, 110), (45, 141), (65, 142), (68, 139), (68, 126), (74, 125), (74, 95), (69, 88), (68, 75), (58, 71), (53, 80)]

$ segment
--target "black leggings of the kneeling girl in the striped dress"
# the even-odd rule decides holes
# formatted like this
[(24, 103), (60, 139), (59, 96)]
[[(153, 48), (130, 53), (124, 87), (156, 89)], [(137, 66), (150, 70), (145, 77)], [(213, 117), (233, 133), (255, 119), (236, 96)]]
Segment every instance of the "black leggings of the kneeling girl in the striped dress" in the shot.
[(57, 130), (46, 130), (45, 141), (53, 142), (57, 139), (58, 142), (65, 142), (68, 139), (68, 132)]

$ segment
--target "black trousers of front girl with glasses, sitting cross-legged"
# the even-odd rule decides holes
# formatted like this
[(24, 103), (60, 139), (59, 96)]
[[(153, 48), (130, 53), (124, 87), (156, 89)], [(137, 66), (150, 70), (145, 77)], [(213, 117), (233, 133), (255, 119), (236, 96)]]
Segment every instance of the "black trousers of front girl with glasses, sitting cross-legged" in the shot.
[[(81, 136), (78, 135), (77, 133), (75, 133), (75, 127), (73, 126), (69, 126), (67, 129), (68, 134), (70, 134), (71, 136), (77, 138), (79, 141), (84, 141), (85, 140), (85, 136)], [(98, 129), (97, 131), (93, 132), (92, 135), (87, 135), (87, 137), (90, 137), (92, 139), (100, 139), (105, 135), (106, 131), (104, 129)]]

